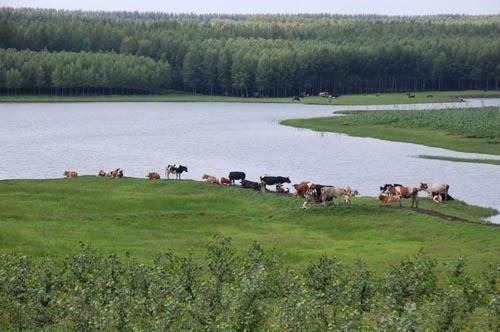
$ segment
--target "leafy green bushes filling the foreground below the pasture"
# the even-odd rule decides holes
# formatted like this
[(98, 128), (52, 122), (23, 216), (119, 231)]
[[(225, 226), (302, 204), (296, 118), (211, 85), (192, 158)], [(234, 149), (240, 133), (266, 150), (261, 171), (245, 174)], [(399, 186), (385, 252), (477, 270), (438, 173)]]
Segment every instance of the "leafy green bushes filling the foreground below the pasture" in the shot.
[(500, 329), (500, 266), (478, 277), (462, 260), (438, 266), (420, 252), (383, 276), (329, 257), (294, 271), (258, 243), (238, 257), (220, 236), (203, 262), (166, 253), (145, 265), (84, 245), (64, 261), (3, 255), (0, 329)]

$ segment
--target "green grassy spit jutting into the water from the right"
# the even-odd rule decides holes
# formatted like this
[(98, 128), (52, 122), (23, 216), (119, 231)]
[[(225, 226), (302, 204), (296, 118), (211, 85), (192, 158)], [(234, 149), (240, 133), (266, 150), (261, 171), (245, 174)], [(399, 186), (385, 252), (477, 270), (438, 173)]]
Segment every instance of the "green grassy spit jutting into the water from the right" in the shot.
[(316, 131), (500, 155), (498, 107), (346, 113), (347, 116), (293, 119), (282, 123)]

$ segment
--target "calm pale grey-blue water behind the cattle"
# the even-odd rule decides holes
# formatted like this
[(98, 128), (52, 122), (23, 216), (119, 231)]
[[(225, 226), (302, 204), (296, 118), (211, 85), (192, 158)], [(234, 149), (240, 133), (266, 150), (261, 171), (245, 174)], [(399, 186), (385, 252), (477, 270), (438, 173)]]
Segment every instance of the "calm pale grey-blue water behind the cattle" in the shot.
[[(500, 167), (419, 159), (420, 154), (464, 158), (499, 156), (459, 153), (416, 144), (279, 125), (287, 118), (331, 115), (344, 109), (422, 109), (500, 105), (500, 99), (460, 104), (308, 106), (238, 103), (0, 104), (0, 179), (57, 178), (65, 169), (96, 174), (121, 167), (126, 176), (163, 175), (168, 163), (203, 173), (247, 178), (290, 176), (321, 184), (350, 184), (375, 196), (389, 182), (416, 185), (445, 181), (466, 202), (500, 210)], [(500, 217), (494, 217), (500, 222)]]

